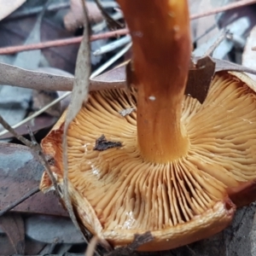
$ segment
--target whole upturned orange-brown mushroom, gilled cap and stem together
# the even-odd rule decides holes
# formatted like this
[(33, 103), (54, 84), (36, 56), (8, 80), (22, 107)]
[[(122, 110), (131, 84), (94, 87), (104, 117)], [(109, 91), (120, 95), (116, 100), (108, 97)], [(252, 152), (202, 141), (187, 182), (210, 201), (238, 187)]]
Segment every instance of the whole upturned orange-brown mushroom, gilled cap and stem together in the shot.
[[(223, 230), (256, 199), (255, 84), (221, 72), (202, 104), (184, 96), (187, 1), (119, 3), (133, 41), (131, 92), (90, 92), (69, 125), (69, 195), (81, 224), (113, 247), (149, 230), (154, 240), (138, 249), (166, 250)], [(60, 186), (64, 121), (42, 142)], [(40, 188), (52, 189), (45, 172)]]

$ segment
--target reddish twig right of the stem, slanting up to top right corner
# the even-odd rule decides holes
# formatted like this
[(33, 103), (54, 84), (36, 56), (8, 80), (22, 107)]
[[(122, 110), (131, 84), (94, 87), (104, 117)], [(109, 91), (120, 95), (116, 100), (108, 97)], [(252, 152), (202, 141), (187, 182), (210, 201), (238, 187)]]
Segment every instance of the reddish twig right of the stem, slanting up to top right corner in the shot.
[(221, 7), (218, 7), (216, 9), (212, 9), (212, 10), (203, 12), (201, 14), (190, 15), (190, 20), (199, 19), (199, 18), (206, 17), (206, 16), (209, 16), (209, 15), (216, 15), (216, 14), (224, 12), (226, 10), (240, 8), (242, 6), (253, 4), (253, 3), (256, 3), (256, 0), (241, 0), (239, 2), (230, 3), (230, 4), (227, 4), (225, 6), (221, 6)]

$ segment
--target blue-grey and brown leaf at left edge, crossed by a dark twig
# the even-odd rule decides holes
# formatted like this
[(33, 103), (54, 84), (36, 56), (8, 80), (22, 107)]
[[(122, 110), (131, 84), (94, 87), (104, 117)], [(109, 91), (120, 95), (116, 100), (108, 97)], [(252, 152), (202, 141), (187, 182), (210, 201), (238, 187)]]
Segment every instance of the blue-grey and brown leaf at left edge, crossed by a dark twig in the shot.
[[(44, 167), (30, 148), (0, 143), (0, 211), (38, 187)], [(14, 208), (19, 212), (67, 216), (53, 192), (37, 193)]]

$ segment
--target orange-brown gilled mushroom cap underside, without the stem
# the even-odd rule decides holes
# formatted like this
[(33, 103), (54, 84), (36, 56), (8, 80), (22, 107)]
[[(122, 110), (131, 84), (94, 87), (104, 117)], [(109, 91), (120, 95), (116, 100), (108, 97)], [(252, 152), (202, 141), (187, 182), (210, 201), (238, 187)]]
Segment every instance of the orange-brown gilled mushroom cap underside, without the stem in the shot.
[[(119, 113), (136, 108), (136, 91), (91, 92), (67, 132), (69, 194), (81, 223), (114, 247), (149, 230), (154, 240), (142, 251), (179, 247), (223, 230), (236, 206), (256, 199), (256, 95), (247, 86), (253, 88), (253, 81), (239, 77), (217, 73), (202, 104), (184, 96), (189, 151), (166, 164), (143, 160), (136, 111)], [(42, 142), (55, 159), (51, 168), (60, 186), (64, 120), (65, 114)], [(102, 134), (121, 147), (94, 150)], [(40, 188), (52, 189), (45, 172)]]

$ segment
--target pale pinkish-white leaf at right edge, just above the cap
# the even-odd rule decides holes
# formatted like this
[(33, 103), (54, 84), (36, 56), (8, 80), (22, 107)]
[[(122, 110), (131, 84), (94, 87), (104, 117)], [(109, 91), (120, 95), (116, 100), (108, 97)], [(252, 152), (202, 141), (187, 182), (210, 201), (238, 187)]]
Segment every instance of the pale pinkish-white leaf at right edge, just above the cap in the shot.
[[(241, 61), (243, 66), (256, 69), (256, 51), (252, 50), (254, 45), (256, 45), (256, 26), (253, 27), (249, 37), (247, 38), (247, 43), (245, 45)], [(256, 75), (247, 75), (256, 81)]]

